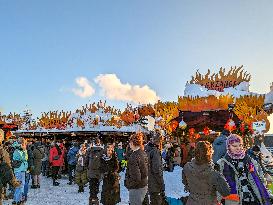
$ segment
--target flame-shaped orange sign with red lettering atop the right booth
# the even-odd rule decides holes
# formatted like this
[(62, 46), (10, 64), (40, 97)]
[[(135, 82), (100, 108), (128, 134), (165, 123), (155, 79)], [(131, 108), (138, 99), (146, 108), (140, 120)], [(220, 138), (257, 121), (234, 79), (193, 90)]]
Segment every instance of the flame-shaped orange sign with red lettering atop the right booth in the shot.
[(205, 86), (209, 90), (218, 90), (222, 92), (224, 88), (235, 87), (241, 82), (250, 81), (251, 75), (244, 72), (242, 68), (243, 66), (239, 66), (238, 68), (236, 66), (234, 68), (231, 67), (227, 74), (225, 73), (226, 69), (222, 67), (220, 68), (219, 73), (214, 73), (212, 75), (210, 70), (208, 70), (205, 75), (202, 75), (197, 71), (195, 77), (192, 76), (190, 83)]

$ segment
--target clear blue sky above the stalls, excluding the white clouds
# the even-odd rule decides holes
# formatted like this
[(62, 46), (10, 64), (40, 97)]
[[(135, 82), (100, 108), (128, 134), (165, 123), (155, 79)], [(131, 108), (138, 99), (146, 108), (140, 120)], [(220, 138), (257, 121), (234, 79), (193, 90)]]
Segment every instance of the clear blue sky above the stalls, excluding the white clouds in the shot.
[[(244, 65), (251, 90), (268, 92), (272, 8), (270, 0), (0, 0), (0, 108), (27, 105), (39, 115), (107, 99), (99, 74), (177, 100), (196, 69), (220, 66)], [(95, 89), (91, 97), (71, 91), (81, 76)]]

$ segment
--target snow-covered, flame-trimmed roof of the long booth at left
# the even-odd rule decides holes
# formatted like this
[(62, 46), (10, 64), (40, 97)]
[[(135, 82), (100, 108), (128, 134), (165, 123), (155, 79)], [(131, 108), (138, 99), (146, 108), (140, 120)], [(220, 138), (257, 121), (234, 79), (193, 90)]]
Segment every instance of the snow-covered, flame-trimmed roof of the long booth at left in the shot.
[(69, 141), (99, 137), (108, 142), (127, 141), (134, 132), (149, 133), (145, 127), (145, 119), (136, 113), (138, 112), (130, 105), (122, 112), (100, 101), (97, 104), (85, 105), (74, 113), (43, 113), (37, 120), (32, 119), (29, 110), (23, 115), (10, 113), (2, 118), (17, 125), (18, 129), (13, 132), (17, 137)]

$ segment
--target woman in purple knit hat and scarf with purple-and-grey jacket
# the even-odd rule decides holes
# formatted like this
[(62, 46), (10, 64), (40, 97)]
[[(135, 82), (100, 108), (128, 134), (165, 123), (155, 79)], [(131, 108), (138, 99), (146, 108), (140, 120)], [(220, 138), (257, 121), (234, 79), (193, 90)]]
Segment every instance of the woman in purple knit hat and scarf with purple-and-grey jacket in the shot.
[(226, 141), (227, 154), (218, 160), (218, 168), (225, 176), (231, 194), (228, 205), (269, 205), (270, 196), (263, 184), (263, 173), (258, 163), (246, 155), (243, 140), (231, 134)]

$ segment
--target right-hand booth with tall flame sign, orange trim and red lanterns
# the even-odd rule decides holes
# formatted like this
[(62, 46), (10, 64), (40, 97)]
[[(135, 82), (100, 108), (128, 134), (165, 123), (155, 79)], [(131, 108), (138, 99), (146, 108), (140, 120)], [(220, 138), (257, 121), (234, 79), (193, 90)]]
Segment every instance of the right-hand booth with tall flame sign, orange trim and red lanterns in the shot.
[[(205, 75), (197, 71), (177, 102), (155, 105), (156, 129), (180, 144), (184, 158), (196, 141), (213, 142), (224, 129), (241, 135), (245, 147), (250, 148), (255, 136), (269, 131), (268, 116), (273, 113), (273, 84), (269, 93), (258, 94), (250, 92), (250, 80), (243, 66), (220, 68), (218, 73), (208, 70)], [(269, 152), (263, 153), (273, 162)]]

